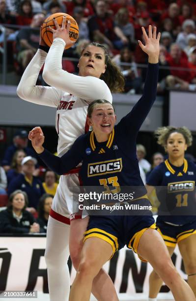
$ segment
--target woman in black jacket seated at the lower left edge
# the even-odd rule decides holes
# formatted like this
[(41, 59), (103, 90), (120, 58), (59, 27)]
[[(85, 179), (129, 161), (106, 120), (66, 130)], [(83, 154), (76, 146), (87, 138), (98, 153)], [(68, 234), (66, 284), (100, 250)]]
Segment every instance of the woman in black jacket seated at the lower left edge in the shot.
[(14, 191), (9, 197), (6, 210), (0, 212), (0, 229), (2, 233), (39, 233), (39, 224), (26, 210), (28, 196), (22, 190)]

